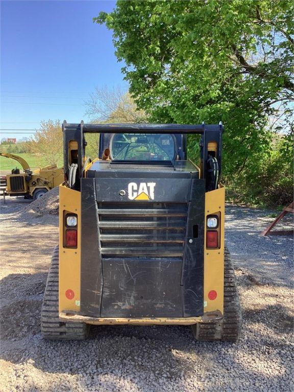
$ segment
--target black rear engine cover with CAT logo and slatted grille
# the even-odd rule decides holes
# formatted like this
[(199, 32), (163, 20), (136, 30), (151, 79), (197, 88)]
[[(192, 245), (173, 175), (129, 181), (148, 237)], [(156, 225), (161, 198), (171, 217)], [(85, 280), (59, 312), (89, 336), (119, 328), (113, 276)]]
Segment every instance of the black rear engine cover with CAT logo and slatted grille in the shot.
[(94, 168), (81, 179), (81, 314), (202, 315), (205, 181), (198, 171), (187, 161), (171, 169)]

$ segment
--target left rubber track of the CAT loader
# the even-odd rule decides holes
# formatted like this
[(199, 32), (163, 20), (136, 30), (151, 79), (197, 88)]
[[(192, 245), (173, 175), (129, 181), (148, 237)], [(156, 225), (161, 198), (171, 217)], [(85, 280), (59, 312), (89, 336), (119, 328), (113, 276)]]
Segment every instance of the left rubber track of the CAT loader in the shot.
[(45, 339), (83, 340), (87, 337), (89, 325), (80, 322), (62, 322), (58, 309), (59, 247), (55, 247), (41, 310), (41, 332)]

